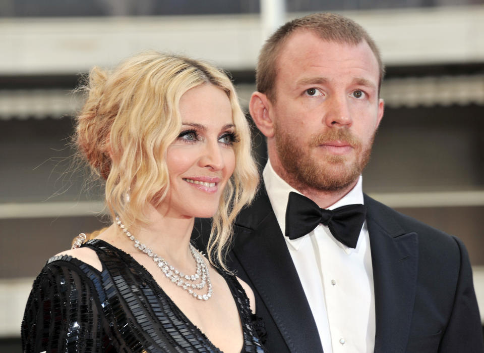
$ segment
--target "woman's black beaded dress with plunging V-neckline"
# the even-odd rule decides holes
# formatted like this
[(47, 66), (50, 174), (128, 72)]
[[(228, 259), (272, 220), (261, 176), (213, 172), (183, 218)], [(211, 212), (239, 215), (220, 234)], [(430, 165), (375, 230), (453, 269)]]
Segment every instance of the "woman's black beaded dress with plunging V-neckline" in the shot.
[[(102, 271), (67, 255), (48, 260), (27, 301), (24, 352), (220, 352), (130, 255), (102, 240), (83, 246)], [(263, 352), (244, 289), (219, 272), (239, 312), (242, 352)]]

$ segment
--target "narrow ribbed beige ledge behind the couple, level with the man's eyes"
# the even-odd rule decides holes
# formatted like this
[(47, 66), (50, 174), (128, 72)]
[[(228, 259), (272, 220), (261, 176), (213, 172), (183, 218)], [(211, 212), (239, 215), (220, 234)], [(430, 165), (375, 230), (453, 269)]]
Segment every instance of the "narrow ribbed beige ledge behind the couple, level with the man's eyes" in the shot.
[[(255, 83), (237, 85), (242, 106), (249, 106), (255, 90)], [(390, 108), (484, 105), (484, 75), (389, 78), (383, 82), (382, 97), (385, 107)], [(68, 90), (3, 89), (0, 90), (0, 120), (61, 118), (79, 111), (82, 103), (81, 93)]]

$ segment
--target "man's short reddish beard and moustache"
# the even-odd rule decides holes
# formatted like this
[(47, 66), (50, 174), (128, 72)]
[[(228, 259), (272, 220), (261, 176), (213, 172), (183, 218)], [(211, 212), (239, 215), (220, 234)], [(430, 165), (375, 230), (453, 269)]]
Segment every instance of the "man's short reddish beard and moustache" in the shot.
[[(324, 134), (312, 135), (307, 144), (301, 145), (276, 124), (275, 143), (282, 167), (295, 184), (292, 186), (296, 189), (338, 191), (354, 183), (367, 165), (375, 134), (376, 131), (370, 141), (364, 144), (347, 129), (334, 128)], [(354, 162), (348, 165), (346, 156), (314, 157), (315, 148), (335, 140), (344, 141), (354, 148)]]

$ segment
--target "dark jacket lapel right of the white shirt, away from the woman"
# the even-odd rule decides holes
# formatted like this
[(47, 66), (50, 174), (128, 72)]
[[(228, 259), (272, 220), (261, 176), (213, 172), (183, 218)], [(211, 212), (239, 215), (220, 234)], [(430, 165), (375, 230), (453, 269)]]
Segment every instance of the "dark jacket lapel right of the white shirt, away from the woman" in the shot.
[(405, 233), (386, 206), (365, 195), (375, 288), (375, 353), (404, 352), (418, 267), (418, 235)]

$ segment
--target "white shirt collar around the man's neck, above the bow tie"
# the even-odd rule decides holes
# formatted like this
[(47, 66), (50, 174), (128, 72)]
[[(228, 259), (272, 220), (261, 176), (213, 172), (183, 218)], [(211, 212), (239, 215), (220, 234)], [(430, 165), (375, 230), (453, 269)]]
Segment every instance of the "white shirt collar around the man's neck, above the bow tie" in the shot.
[[(269, 196), (269, 201), (271, 203), (272, 210), (276, 215), (277, 223), (279, 223), (282, 234), (284, 234), (286, 229), (286, 209), (287, 200), (289, 199), (289, 192), (294, 191), (299, 194), (301, 193), (290, 186), (274, 171), (270, 160), (267, 160), (267, 164), (262, 172), (262, 178), (264, 179), (267, 196)], [(358, 177), (356, 185), (346, 195), (344, 195), (327, 209), (334, 210), (338, 207), (352, 204), (364, 205), (361, 175)], [(294, 240), (286, 238), (286, 240), (289, 240), (289, 243), (293, 245), (295, 249), (297, 249), (299, 247), (298, 245), (300, 245), (300, 240), (303, 238), (304, 237)]]

